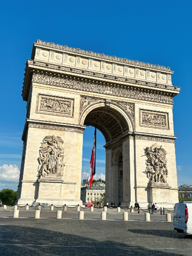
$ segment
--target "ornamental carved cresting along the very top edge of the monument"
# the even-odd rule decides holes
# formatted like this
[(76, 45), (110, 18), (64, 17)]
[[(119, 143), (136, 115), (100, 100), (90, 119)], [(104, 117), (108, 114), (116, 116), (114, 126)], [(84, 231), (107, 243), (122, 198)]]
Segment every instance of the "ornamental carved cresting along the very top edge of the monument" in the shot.
[[(126, 59), (126, 58), (119, 58), (119, 57), (116, 57), (116, 56), (109, 56), (109, 55), (106, 55), (104, 53), (94, 53), (92, 51), (81, 50), (79, 48), (73, 48), (73, 47), (69, 47), (67, 45), (60, 45), (60, 44), (41, 41), (40, 39), (38, 39), (36, 41), (36, 45), (55, 48), (55, 49), (58, 49), (58, 50), (64, 50), (64, 51), (68, 51), (68, 52), (76, 53), (76, 54), (80, 53), (80, 54), (83, 54), (83, 55), (102, 58), (102, 59), (115, 61), (115, 62), (122, 62), (122, 64), (125, 64), (125, 63), (126, 64), (134, 64), (134, 65), (137, 65), (137, 66), (142, 66), (142, 67), (146, 67), (146, 68), (155, 68), (155, 69), (158, 69), (158, 70), (169, 71), (169, 72), (173, 73), (172, 71), (170, 71), (169, 67), (164, 67), (164, 66), (160, 66), (160, 65), (154, 65), (154, 64), (139, 62), (137, 60), (130, 60), (130, 59)], [(34, 53), (32, 53), (32, 57), (33, 56), (34, 56)]]

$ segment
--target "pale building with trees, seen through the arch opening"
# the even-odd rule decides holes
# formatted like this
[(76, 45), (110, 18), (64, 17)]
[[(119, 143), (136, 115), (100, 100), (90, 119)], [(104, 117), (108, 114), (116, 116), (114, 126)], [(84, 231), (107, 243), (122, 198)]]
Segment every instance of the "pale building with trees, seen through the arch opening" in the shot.
[(96, 182), (89, 188), (89, 183), (81, 184), (81, 200), (83, 203), (101, 202), (105, 193), (105, 183)]

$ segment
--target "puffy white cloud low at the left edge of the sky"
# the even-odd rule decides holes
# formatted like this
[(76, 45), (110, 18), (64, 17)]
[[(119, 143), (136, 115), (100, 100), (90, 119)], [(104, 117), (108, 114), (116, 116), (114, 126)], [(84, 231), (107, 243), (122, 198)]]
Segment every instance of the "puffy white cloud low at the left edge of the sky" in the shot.
[(20, 171), (17, 165), (1, 165), (0, 166), (0, 182), (17, 183)]

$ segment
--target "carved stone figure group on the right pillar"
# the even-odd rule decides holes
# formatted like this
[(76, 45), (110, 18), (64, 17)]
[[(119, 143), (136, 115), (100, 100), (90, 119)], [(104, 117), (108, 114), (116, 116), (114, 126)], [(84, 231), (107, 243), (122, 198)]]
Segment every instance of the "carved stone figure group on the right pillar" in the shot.
[(166, 183), (168, 176), (166, 150), (162, 146), (158, 147), (157, 143), (151, 147), (146, 147), (144, 150), (145, 156), (147, 156), (144, 173), (151, 182)]

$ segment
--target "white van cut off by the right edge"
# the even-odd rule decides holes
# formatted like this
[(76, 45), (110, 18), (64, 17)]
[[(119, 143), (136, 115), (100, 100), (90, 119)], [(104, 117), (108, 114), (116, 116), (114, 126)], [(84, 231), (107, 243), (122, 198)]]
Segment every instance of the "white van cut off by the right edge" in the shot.
[(173, 225), (177, 232), (192, 234), (192, 202), (175, 203)]

